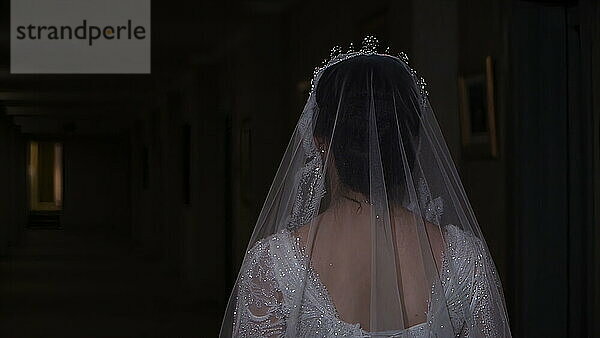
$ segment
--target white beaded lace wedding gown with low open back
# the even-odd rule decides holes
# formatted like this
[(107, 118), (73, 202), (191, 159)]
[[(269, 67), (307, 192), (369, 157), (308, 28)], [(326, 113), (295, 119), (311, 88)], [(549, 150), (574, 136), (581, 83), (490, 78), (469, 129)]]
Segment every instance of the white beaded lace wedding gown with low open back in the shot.
[[(358, 323), (340, 319), (299, 239), (289, 230), (281, 230), (248, 251), (239, 277), (233, 336), (500, 336), (500, 304), (494, 304), (486, 295), (491, 288), (501, 288), (487, 250), (481, 240), (453, 225), (446, 226), (444, 232), (446, 248), (440, 283), (432, 286), (427, 322), (404, 330), (373, 333)], [(302, 285), (304, 292), (297, 292)], [(449, 317), (452, 327), (440, 325), (448, 322), (438, 320), (440, 316)]]

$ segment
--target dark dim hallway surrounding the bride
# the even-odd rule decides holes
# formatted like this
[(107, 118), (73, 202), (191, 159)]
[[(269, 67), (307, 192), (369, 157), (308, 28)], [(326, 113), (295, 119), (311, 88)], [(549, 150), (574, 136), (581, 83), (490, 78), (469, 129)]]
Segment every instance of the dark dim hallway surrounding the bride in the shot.
[(341, 8), (154, 1), (151, 74), (11, 74), (0, 1), (0, 337), (217, 336), (313, 69), (367, 34), (427, 81), (513, 335), (600, 337), (600, 4)]

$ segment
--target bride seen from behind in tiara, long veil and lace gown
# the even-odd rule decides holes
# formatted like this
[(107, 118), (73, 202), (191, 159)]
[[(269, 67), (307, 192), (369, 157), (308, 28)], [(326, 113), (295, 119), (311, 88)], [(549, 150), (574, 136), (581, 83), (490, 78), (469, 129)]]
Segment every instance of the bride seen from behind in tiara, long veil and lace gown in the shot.
[(425, 83), (376, 44), (315, 70), (222, 337), (510, 337)]

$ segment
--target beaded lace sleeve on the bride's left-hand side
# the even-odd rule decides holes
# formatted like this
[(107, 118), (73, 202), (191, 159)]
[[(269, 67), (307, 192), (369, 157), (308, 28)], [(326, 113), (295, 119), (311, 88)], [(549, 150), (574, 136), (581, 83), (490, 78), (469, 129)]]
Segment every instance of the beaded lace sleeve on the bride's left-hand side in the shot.
[(282, 299), (269, 241), (259, 241), (246, 255), (240, 273), (233, 337), (283, 337)]

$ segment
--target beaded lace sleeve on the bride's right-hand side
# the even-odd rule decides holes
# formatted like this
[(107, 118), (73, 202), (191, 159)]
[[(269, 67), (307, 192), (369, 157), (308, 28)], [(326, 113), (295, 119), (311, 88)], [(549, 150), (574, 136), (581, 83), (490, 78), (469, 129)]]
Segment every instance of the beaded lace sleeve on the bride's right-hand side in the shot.
[(460, 337), (510, 337), (502, 286), (484, 242), (455, 226), (447, 231), (448, 308)]

